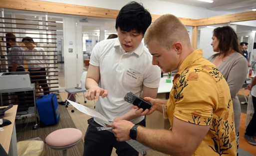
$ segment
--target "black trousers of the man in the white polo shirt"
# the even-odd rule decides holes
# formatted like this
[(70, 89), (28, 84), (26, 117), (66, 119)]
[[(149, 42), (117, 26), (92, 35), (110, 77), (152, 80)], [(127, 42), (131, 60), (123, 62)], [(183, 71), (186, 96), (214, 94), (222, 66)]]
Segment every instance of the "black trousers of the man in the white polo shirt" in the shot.
[[(116, 137), (109, 131), (97, 131), (97, 124), (93, 118), (88, 120), (88, 128), (84, 136), (83, 156), (111, 156), (113, 147), (118, 156), (139, 156), (139, 153), (126, 142), (116, 141)], [(145, 126), (145, 119), (137, 125)]]

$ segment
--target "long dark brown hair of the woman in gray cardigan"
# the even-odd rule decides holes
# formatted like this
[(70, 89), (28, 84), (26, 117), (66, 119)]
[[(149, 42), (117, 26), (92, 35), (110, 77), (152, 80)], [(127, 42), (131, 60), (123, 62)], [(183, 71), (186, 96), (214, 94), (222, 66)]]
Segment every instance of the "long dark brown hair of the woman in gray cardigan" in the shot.
[(235, 30), (232, 27), (224, 26), (215, 28), (213, 35), (217, 37), (220, 41), (220, 53), (215, 54), (214, 58), (220, 55), (226, 57), (229, 54), (230, 49), (240, 54), (243, 54), (239, 46), (238, 35), (236, 34)]

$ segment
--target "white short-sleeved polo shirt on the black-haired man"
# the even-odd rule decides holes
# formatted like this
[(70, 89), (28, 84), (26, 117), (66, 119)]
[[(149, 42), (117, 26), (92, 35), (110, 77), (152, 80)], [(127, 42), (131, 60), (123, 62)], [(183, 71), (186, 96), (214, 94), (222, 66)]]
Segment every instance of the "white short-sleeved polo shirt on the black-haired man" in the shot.
[[(152, 55), (142, 42), (134, 51), (126, 53), (118, 38), (103, 40), (93, 48), (90, 64), (100, 67), (99, 87), (108, 90), (108, 96), (96, 102), (96, 111), (109, 122), (133, 109), (132, 104), (124, 100), (128, 91), (140, 96), (143, 85), (159, 87), (161, 70), (152, 65)], [(141, 116), (131, 122), (137, 124), (143, 119)]]

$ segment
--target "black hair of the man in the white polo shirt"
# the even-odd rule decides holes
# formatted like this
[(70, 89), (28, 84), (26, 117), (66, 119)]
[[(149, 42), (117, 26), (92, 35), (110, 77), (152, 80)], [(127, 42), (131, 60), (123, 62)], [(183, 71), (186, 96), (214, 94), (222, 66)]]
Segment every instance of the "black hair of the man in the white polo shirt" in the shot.
[(142, 4), (131, 1), (124, 5), (116, 18), (116, 30), (118, 27), (122, 31), (130, 32), (136, 30), (145, 34), (152, 22), (152, 17)]

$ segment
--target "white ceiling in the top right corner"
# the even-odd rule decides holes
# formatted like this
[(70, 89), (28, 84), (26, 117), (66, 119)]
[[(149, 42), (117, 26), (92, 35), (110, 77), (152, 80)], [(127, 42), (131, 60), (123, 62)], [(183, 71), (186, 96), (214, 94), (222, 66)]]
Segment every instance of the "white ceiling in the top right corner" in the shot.
[(161, 0), (191, 6), (204, 7), (215, 11), (247, 12), (256, 8), (256, 0), (214, 0), (213, 3), (199, 0)]

